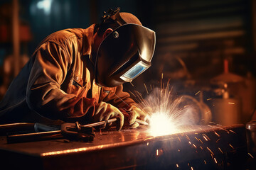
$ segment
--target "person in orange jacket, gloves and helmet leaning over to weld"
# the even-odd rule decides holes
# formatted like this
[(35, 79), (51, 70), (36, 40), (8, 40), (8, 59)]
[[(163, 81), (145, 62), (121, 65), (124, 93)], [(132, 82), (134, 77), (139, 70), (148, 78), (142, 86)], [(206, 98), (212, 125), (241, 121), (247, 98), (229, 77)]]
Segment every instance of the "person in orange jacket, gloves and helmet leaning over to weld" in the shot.
[(154, 31), (119, 8), (87, 29), (48, 35), (9, 86), (0, 103), (0, 123), (118, 118), (120, 130), (127, 118), (137, 128), (135, 120), (147, 115), (122, 84), (151, 66), (154, 47)]

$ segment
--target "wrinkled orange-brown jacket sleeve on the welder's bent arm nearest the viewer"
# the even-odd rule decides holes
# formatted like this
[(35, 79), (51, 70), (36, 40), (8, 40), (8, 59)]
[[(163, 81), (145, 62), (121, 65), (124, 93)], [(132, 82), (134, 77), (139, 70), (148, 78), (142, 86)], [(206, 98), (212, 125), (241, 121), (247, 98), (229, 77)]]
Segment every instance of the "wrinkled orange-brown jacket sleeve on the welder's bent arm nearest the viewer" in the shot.
[(53, 120), (67, 120), (89, 116), (95, 111), (95, 98), (66, 94), (60, 89), (65, 80), (72, 55), (55, 42), (47, 42), (33, 55), (28, 79), (26, 100), (28, 107)]

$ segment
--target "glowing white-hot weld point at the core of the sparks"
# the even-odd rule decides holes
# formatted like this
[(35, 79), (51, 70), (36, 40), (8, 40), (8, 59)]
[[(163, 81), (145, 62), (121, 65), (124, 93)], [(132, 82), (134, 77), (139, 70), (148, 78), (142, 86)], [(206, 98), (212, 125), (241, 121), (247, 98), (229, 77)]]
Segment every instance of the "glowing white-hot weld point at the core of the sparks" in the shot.
[(154, 113), (149, 118), (149, 132), (152, 136), (171, 135), (177, 132), (174, 120), (166, 113)]

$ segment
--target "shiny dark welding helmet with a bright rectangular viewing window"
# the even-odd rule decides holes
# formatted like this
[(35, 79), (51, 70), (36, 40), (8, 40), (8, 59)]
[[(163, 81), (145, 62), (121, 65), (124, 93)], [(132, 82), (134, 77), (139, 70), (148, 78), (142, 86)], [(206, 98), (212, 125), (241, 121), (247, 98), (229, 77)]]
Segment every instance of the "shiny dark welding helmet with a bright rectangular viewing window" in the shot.
[(95, 61), (95, 81), (113, 87), (131, 82), (151, 66), (156, 35), (133, 23), (119, 26), (102, 41)]

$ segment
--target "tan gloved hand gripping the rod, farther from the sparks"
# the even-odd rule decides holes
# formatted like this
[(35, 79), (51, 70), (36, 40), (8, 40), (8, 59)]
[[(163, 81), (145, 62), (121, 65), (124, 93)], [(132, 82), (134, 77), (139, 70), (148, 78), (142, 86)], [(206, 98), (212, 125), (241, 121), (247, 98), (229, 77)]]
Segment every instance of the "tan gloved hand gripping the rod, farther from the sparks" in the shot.
[[(110, 118), (117, 118), (117, 130), (121, 130), (122, 126), (124, 125), (124, 115), (121, 113), (121, 111), (111, 104), (105, 103), (104, 101), (98, 103), (93, 118), (95, 122), (109, 120)], [(105, 128), (105, 126), (103, 128)]]

